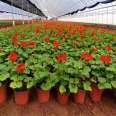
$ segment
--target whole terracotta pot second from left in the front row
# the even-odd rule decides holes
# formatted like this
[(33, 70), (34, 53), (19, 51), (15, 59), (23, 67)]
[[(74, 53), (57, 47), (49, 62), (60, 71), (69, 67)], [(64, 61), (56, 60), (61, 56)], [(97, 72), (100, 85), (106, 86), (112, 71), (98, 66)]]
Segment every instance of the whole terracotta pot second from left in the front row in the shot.
[(29, 91), (15, 91), (15, 103), (26, 105), (29, 101)]

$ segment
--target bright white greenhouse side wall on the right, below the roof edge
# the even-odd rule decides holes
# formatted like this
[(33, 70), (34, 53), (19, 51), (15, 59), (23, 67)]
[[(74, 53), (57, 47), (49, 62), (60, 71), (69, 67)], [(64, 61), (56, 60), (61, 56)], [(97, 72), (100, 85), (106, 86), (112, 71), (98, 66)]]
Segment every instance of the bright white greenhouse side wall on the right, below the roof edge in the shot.
[(116, 2), (99, 4), (94, 8), (61, 17), (58, 20), (116, 25)]

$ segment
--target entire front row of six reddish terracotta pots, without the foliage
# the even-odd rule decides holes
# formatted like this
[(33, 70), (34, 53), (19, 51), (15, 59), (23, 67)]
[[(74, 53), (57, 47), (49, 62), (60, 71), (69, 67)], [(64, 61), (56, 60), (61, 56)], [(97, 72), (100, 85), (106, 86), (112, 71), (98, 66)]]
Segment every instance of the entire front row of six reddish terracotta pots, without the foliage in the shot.
[[(52, 91), (53, 92), (53, 91)], [(55, 88), (56, 93), (56, 100), (60, 105), (67, 105), (69, 103), (70, 98), (73, 98), (74, 103), (76, 104), (84, 104), (86, 97), (88, 96), (87, 92), (84, 90), (79, 90), (76, 93), (70, 93), (70, 92), (61, 92), (58, 91), (58, 89)], [(100, 102), (102, 98), (103, 90), (98, 89), (96, 84), (92, 85), (92, 91), (89, 93), (91, 100), (96, 103)], [(0, 87), (0, 104), (4, 104), (7, 102), (8, 99), (8, 88), (7, 86), (1, 86)], [(38, 103), (45, 104), (49, 102), (51, 91), (50, 90), (44, 90), (40, 88), (36, 88), (36, 98)], [(14, 90), (14, 101), (16, 105), (27, 105), (30, 100), (30, 88), (27, 88), (27, 90)]]

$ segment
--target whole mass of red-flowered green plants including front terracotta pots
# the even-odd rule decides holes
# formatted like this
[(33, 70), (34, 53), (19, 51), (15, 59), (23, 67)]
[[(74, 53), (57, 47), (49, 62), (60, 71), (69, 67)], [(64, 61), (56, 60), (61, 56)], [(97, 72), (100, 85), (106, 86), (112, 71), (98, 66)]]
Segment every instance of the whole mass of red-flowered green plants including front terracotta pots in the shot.
[(83, 104), (87, 91), (98, 102), (104, 89), (116, 88), (114, 35), (80, 25), (68, 29), (30, 24), (1, 33), (0, 103), (7, 98), (6, 85), (19, 105), (28, 102), (32, 88), (42, 103), (55, 88), (60, 104), (66, 104), (70, 94)]

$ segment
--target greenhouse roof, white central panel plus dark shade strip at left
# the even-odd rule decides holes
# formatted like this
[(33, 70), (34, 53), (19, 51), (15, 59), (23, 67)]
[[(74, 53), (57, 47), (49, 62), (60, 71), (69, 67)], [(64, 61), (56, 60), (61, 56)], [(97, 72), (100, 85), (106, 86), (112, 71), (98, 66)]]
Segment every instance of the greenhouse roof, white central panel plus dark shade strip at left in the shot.
[(115, 0), (0, 0), (25, 11), (57, 18), (64, 15), (74, 14), (86, 8), (92, 8), (100, 3), (110, 3)]

